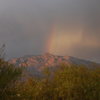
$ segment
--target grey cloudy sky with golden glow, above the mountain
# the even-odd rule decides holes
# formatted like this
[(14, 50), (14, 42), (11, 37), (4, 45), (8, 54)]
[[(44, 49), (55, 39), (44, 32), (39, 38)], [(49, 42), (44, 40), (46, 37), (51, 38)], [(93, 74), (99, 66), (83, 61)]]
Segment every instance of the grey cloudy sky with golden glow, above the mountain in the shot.
[(7, 58), (49, 52), (100, 62), (99, 0), (0, 0)]

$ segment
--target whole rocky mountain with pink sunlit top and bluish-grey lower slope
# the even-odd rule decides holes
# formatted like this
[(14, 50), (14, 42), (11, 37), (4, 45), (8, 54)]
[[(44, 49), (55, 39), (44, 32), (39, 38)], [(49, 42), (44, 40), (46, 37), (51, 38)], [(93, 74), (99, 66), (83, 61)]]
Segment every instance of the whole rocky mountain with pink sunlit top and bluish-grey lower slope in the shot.
[(44, 68), (56, 69), (59, 64), (64, 63), (67, 65), (85, 65), (87, 67), (93, 67), (98, 65), (94, 62), (78, 59), (71, 56), (57, 56), (50, 53), (45, 53), (38, 56), (24, 56), (20, 58), (13, 58), (9, 60), (9, 63), (16, 66), (23, 66), (27, 68), (27, 71), (33, 75), (39, 75)]

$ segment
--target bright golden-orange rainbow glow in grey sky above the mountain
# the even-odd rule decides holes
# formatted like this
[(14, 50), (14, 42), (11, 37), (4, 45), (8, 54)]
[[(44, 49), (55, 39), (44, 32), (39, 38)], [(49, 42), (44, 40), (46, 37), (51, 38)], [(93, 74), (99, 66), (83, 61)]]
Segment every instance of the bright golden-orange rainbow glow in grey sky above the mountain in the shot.
[(66, 51), (71, 53), (72, 48), (82, 42), (82, 34), (82, 29), (66, 30), (58, 24), (53, 24), (45, 51), (52, 54), (66, 54)]

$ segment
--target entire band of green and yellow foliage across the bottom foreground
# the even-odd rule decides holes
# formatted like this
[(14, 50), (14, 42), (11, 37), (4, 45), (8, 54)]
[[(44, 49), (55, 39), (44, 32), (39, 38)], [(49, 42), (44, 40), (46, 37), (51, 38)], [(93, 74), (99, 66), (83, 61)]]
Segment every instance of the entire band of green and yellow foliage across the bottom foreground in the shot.
[(61, 65), (43, 73), (25, 78), (22, 68), (0, 60), (0, 100), (100, 100), (100, 68)]

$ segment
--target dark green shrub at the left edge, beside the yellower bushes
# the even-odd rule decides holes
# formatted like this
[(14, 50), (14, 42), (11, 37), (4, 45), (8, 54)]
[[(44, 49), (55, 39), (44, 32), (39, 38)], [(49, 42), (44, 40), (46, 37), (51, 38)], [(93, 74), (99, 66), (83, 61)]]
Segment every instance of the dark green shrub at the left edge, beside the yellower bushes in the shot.
[(14, 84), (21, 76), (22, 69), (0, 59), (0, 100), (10, 100)]

